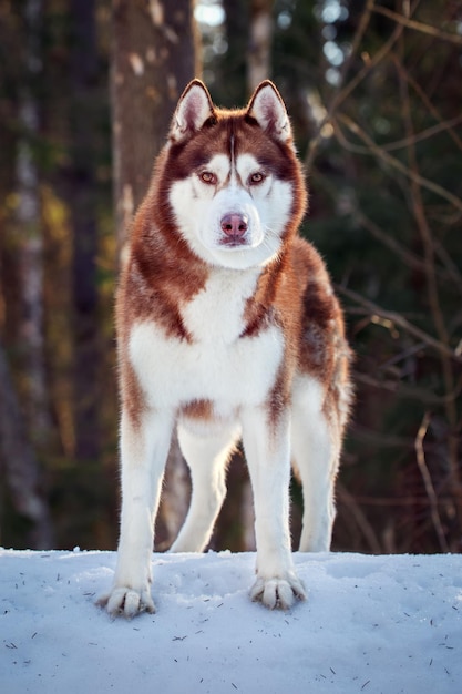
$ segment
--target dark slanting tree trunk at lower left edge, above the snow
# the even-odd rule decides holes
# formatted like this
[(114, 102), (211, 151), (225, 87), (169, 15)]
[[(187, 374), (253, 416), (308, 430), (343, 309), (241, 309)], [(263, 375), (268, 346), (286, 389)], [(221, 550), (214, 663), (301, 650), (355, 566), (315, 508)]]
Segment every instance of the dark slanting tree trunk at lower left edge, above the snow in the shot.
[[(28, 523), (28, 530), (23, 534), (27, 547), (50, 549), (53, 547), (53, 532), (42, 489), (42, 472), (34, 450), (29, 442), (25, 422), (1, 343), (0, 384), (2, 389), (0, 398), (2, 477), (4, 476), (11, 492), (11, 506), (16, 513)], [(1, 537), (0, 541), (2, 541)]]

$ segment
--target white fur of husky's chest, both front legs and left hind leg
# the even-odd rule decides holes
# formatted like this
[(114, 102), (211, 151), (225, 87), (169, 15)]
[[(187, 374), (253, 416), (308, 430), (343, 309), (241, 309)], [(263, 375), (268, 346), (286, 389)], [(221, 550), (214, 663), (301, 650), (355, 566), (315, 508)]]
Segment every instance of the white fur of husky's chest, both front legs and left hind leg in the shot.
[(216, 269), (205, 288), (182, 307), (193, 344), (137, 323), (130, 358), (150, 405), (140, 430), (123, 415), (123, 504), (114, 585), (102, 599), (112, 614), (153, 611), (148, 581), (153, 523), (176, 410), (195, 399), (214, 404), (213, 421), (183, 418), (178, 428), (191, 466), (193, 499), (174, 550), (198, 551), (209, 539), (225, 494), (225, 466), (243, 430), (256, 510), (257, 581), (250, 594), (287, 609), (305, 596), (294, 570), (288, 530), (289, 421), (268, 430), (265, 400), (284, 356), (280, 329), (240, 337), (245, 300), (255, 271)]

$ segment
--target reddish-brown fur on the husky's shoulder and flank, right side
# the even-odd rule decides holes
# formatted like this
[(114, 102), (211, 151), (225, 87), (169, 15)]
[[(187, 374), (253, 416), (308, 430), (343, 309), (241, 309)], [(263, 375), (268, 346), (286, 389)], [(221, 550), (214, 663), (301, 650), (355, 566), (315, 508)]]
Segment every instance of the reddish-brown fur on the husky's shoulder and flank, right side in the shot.
[(299, 237), (287, 245), (286, 254), (261, 274), (257, 292), (247, 303), (244, 331), (246, 336), (257, 335), (270, 323), (284, 330), (284, 372), (278, 374), (269, 398), (273, 422), (288, 402), (295, 369), (326, 385), (328, 407), (338, 400), (333, 389), (348, 381), (349, 349), (342, 313), (322, 259)]

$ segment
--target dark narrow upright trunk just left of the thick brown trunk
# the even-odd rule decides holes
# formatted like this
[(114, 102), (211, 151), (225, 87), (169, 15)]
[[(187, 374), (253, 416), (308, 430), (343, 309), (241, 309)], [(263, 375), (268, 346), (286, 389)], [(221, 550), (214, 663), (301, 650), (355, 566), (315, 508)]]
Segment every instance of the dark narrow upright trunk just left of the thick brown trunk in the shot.
[(69, 205), (73, 227), (74, 428), (75, 457), (100, 455), (101, 354), (96, 285), (95, 86), (97, 83), (95, 2), (71, 0), (70, 123), (72, 133)]

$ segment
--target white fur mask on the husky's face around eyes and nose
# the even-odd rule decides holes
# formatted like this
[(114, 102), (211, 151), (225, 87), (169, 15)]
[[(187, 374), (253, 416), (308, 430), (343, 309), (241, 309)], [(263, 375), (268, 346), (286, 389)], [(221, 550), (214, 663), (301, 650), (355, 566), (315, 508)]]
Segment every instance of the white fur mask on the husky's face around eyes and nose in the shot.
[[(201, 180), (204, 171), (216, 175), (216, 185)], [(251, 154), (242, 154), (233, 163), (217, 154), (199, 171), (177, 181), (170, 200), (179, 231), (193, 251), (205, 262), (235, 269), (268, 263), (280, 248), (280, 236), (291, 207), (291, 185), (269, 172), (259, 185), (250, 185), (253, 173), (261, 172)], [(224, 215), (237, 213), (248, 218), (245, 244), (226, 247), (222, 242)]]

